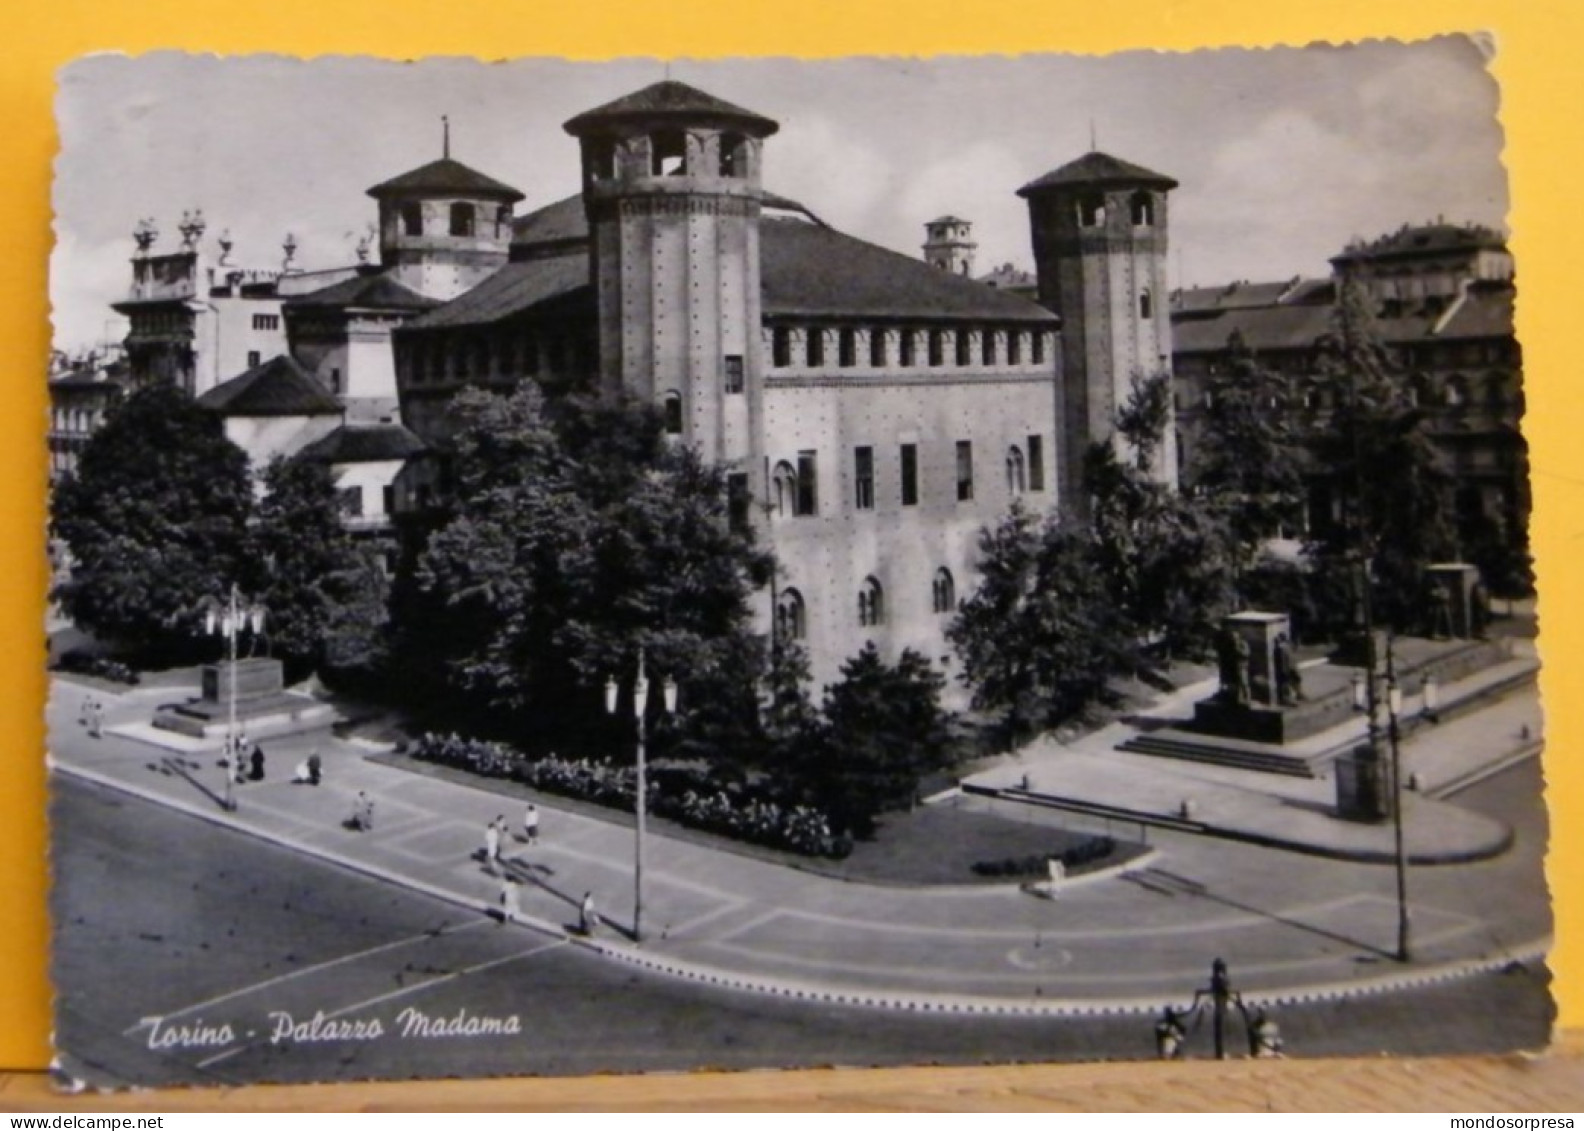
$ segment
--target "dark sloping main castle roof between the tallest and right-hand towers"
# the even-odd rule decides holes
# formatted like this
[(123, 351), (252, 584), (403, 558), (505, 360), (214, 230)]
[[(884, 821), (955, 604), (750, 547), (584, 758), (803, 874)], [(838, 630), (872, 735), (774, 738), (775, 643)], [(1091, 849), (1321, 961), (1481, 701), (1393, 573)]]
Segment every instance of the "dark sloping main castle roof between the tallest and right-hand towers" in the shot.
[(767, 217), (759, 249), (767, 315), (1057, 322), (1025, 298), (805, 220)]

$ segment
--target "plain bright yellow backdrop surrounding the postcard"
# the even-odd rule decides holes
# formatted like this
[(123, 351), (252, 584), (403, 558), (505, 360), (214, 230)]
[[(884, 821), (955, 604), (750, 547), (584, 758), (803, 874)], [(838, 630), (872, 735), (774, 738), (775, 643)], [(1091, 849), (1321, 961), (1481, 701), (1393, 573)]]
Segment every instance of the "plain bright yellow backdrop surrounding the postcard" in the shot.
[[(1540, 569), (1557, 996), (1584, 1025), (1584, 5), (1574, 0), (51, 0), (11, 5), (0, 54), (0, 1068), (49, 1055), (43, 558), (46, 268), (54, 71), (95, 51), (516, 55), (841, 55), (1185, 51), (1491, 32), (1513, 177), (1533, 546)], [(1426, 98), (1437, 92), (1426, 90)], [(993, 128), (992, 122), (985, 128)], [(105, 201), (116, 208), (114, 200)], [(1570, 694), (1571, 692), (1571, 694)], [(135, 976), (135, 971), (128, 971)], [(1456, 1023), (1456, 1022), (1454, 1022)]]

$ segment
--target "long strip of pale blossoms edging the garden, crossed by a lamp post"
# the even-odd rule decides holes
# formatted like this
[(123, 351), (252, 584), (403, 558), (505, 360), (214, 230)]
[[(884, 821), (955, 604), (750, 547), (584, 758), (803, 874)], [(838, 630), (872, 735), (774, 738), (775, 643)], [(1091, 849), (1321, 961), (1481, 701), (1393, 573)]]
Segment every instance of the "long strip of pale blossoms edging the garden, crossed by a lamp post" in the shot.
[[(632, 809), (637, 771), (588, 759), (554, 754), (531, 759), (505, 743), (461, 735), (428, 733), (409, 752), (425, 762), (456, 767), (485, 778), (521, 781), (546, 794), (594, 802), (613, 809)], [(719, 836), (751, 841), (800, 855), (841, 859), (852, 841), (832, 832), (824, 813), (789, 805), (771, 794), (740, 783), (724, 783), (702, 768), (656, 768), (646, 790), (649, 813), (680, 825)]]

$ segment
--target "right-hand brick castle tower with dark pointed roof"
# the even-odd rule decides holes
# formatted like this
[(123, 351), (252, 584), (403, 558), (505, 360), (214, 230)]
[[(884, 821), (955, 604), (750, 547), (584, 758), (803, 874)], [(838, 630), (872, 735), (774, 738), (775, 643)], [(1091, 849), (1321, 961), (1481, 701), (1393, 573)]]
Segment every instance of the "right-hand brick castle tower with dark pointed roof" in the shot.
[[(1171, 372), (1166, 195), (1177, 182), (1091, 152), (1017, 190), (1028, 201), (1039, 301), (1061, 318), (1061, 491), (1083, 505), (1083, 453), (1112, 439), (1136, 380)], [(1131, 453), (1118, 453), (1125, 459)], [(1177, 485), (1167, 423), (1153, 475)]]

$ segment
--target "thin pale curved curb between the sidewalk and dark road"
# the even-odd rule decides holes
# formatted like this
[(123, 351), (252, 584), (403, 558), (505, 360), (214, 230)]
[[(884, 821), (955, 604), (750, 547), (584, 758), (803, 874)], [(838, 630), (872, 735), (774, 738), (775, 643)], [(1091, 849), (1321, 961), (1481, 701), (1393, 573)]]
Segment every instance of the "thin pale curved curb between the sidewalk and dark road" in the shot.
[[(493, 900), (477, 900), (472, 897), (458, 895), (456, 892), (440, 887), (439, 884), (431, 884), (423, 879), (415, 879), (412, 876), (399, 874), (380, 865), (361, 860), (350, 860), (344, 855), (337, 855), (329, 851), (296, 844), (265, 828), (238, 825), (228, 821), (225, 814), (211, 809), (209, 806), (198, 806), (187, 802), (173, 800), (154, 790), (141, 789), (131, 783), (117, 781), (95, 770), (87, 770), (82, 767), (68, 767), (55, 760), (54, 756), (49, 756), (48, 767), (52, 773), (79, 778), (82, 781), (90, 781), (105, 789), (112, 789), (120, 794), (128, 794), (131, 797), (150, 802), (154, 805), (162, 805), (168, 809), (176, 809), (177, 813), (198, 817), (209, 824), (222, 825), (233, 832), (253, 836), (255, 840), (261, 840), (269, 844), (276, 844), (279, 847), (287, 847), (293, 852), (301, 852), (303, 855), (309, 855), (317, 860), (347, 868), (350, 871), (358, 871), (366, 876), (372, 876), (396, 887), (429, 895), (436, 900), (464, 908), (467, 911), (474, 911), (483, 916), (499, 916), (499, 908), (494, 906)], [(1128, 998), (1041, 998), (1036, 990), (1036, 996), (1031, 1000), (1007, 1000), (1007, 998), (995, 998), (987, 995), (969, 995), (969, 993), (889, 992), (889, 990), (876, 992), (876, 990), (862, 990), (847, 987), (832, 987), (817, 982), (735, 974), (730, 971), (722, 971), (713, 966), (705, 966), (681, 958), (651, 957), (648, 954), (640, 952), (635, 946), (618, 946), (599, 939), (591, 939), (583, 935), (567, 931), (564, 927), (558, 923), (551, 923), (532, 916), (520, 916), (512, 922), (515, 925), (526, 927), (535, 933), (564, 939), (572, 946), (583, 947), (591, 954), (597, 954), (604, 958), (623, 962), (629, 966), (637, 966), (649, 973), (678, 977), (699, 985), (710, 985), (716, 988), (738, 990), (748, 993), (762, 993), (768, 996), (819, 1003), (819, 1004), (892, 1009), (901, 1012), (965, 1014), (965, 1015), (988, 1015), (988, 1017), (1095, 1017), (1109, 1014), (1158, 1014), (1166, 1007), (1172, 1009), (1185, 1007), (1188, 1003), (1188, 998), (1164, 996), (1164, 995), (1161, 996), (1137, 995)], [(1274, 990), (1251, 990), (1243, 993), (1242, 996), (1248, 1003), (1275, 1006), (1275, 1004), (1337, 1001), (1343, 998), (1356, 998), (1375, 993), (1413, 990), (1426, 985), (1457, 981), (1462, 977), (1472, 977), (1475, 974), (1484, 974), (1495, 969), (1505, 969), (1514, 963), (1544, 960), (1546, 954), (1551, 950), (1551, 946), (1552, 946), (1552, 938), (1546, 935), (1540, 939), (1533, 939), (1519, 947), (1514, 947), (1508, 954), (1497, 958), (1454, 960), (1416, 971), (1402, 973), (1397, 976), (1384, 976), (1373, 979), (1361, 979), (1348, 982), (1321, 982), (1318, 985), (1280, 987)]]

